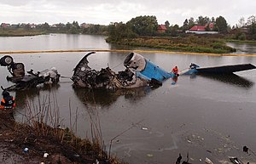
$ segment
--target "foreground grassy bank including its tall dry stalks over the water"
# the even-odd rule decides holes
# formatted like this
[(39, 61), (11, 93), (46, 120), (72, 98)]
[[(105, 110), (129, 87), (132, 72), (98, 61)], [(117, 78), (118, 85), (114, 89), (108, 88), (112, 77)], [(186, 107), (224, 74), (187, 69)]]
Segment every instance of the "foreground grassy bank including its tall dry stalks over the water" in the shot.
[[(26, 102), (25, 113), (21, 114), (23, 122), (15, 122), (11, 111), (0, 110), (0, 146), (8, 149), (12, 163), (124, 163), (104, 150), (96, 122), (91, 121), (92, 139), (80, 139), (75, 135), (77, 112), (75, 121), (70, 116), (70, 127), (62, 128), (54, 96), (38, 99), (36, 104)], [(2, 151), (0, 156), (4, 156)], [(7, 160), (0, 162), (8, 163)]]

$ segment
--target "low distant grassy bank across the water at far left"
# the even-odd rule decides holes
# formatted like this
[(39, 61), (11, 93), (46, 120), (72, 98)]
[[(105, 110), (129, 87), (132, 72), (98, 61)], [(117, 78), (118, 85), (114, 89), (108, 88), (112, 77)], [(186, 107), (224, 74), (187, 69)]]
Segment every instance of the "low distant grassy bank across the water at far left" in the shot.
[(45, 31), (40, 30), (25, 30), (23, 28), (18, 29), (3, 29), (0, 28), (0, 37), (25, 37), (25, 36), (36, 36), (46, 34)]

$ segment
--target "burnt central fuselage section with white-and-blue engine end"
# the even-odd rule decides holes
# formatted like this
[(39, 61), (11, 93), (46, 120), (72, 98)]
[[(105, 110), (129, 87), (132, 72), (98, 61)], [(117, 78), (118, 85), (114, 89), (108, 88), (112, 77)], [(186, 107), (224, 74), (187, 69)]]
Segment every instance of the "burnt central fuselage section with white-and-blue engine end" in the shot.
[(75, 88), (139, 88), (145, 86), (160, 86), (161, 83), (174, 76), (154, 65), (140, 54), (131, 53), (125, 61), (125, 71), (115, 73), (109, 67), (101, 71), (90, 68), (86, 54), (79, 64), (74, 68), (72, 76), (73, 87)]

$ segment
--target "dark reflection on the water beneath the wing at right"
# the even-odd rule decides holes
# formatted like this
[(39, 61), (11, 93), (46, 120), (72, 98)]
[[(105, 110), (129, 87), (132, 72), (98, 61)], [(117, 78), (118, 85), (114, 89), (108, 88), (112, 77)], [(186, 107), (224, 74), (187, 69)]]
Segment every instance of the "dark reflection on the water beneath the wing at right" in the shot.
[(254, 84), (254, 82), (251, 82), (244, 77), (237, 76), (236, 74), (224, 74), (224, 75), (203, 74), (200, 76), (204, 76), (215, 81), (225, 82), (225, 83), (234, 85), (236, 87), (247, 88), (247, 89), (252, 88)]

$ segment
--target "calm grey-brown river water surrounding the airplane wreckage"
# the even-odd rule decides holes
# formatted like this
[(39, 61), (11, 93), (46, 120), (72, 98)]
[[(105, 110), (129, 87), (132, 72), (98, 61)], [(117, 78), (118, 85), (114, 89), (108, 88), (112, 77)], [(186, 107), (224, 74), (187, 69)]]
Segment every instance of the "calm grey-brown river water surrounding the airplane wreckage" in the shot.
[[(35, 37), (0, 37), (0, 51), (117, 49), (102, 36), (51, 34)], [(255, 49), (255, 47), (253, 47)], [(126, 48), (129, 49), (129, 48)], [(140, 48), (130, 48), (140, 49)], [(255, 54), (255, 52), (253, 51)], [(43, 71), (55, 67), (61, 76), (73, 75), (73, 68), (85, 53), (11, 54), (26, 71)], [(122, 71), (128, 53), (99, 52), (90, 55), (90, 67), (100, 70), (109, 65)], [(201, 66), (251, 63), (255, 57), (207, 56), (189, 54), (141, 53), (166, 71), (177, 65), (185, 69), (191, 62)], [(1, 54), (1, 57), (4, 54)], [(12, 85), (0, 67), (1, 85)], [(214, 163), (237, 156), (244, 162), (255, 161), (242, 151), (247, 145), (256, 151), (256, 70), (241, 71), (234, 76), (179, 76), (160, 88), (140, 88), (129, 93), (91, 92), (74, 89), (68, 78), (58, 87), (12, 92), (16, 97), (15, 119), (22, 121), (25, 109), (38, 109), (44, 99), (58, 109), (61, 127), (70, 127), (82, 138), (91, 137), (94, 125), (102, 134), (108, 150), (120, 160), (132, 164), (175, 163), (181, 153), (191, 163)], [(37, 110), (38, 111), (38, 110)], [(92, 126), (93, 127), (93, 126)]]

